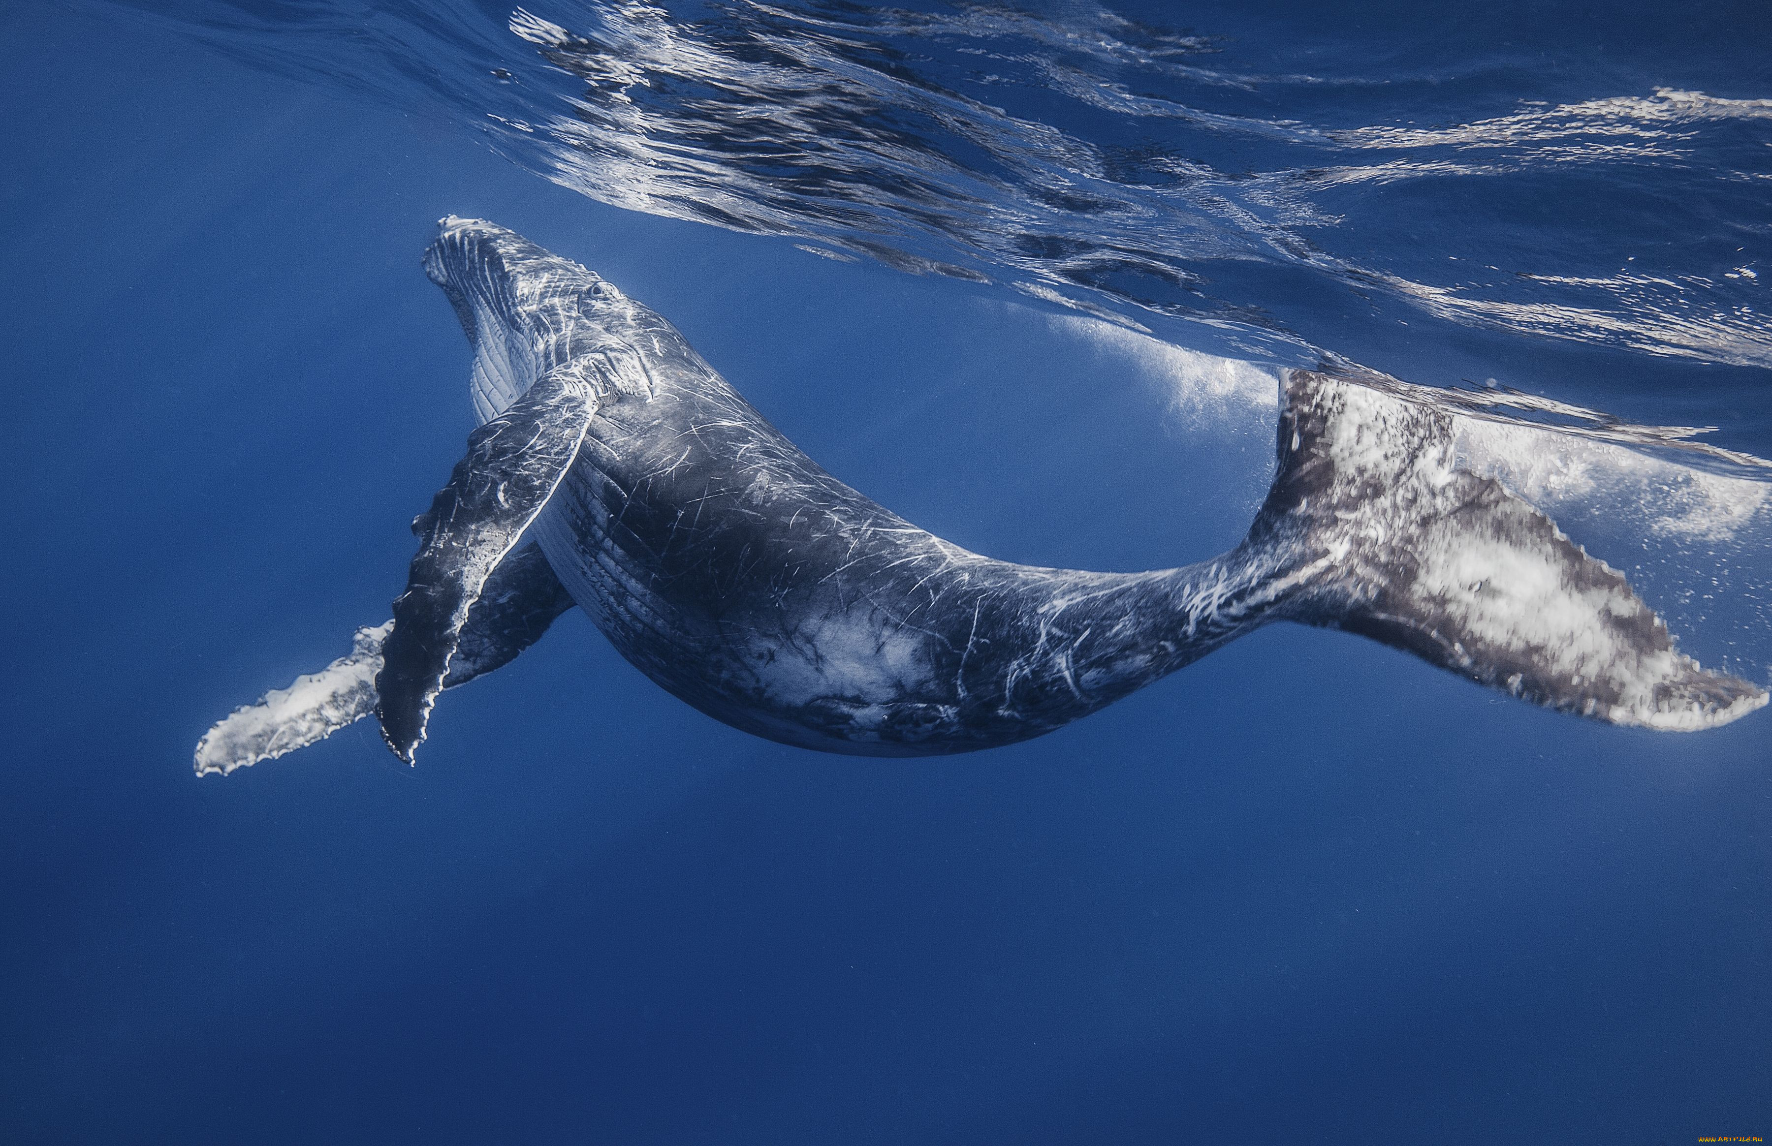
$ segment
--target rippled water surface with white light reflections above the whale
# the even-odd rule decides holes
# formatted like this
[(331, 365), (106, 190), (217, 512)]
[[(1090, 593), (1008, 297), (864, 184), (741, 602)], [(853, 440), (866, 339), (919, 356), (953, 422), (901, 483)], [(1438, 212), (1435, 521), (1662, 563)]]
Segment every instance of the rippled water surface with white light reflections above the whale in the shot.
[(1526, 7), (1265, 28), (1086, 4), (145, 7), (602, 202), (1125, 321), (1341, 352), (1306, 310), (1331, 292), (1705, 363), (1772, 349), (1772, 101), (1728, 5), (1625, 12), (1611, 44), (1588, 12)]

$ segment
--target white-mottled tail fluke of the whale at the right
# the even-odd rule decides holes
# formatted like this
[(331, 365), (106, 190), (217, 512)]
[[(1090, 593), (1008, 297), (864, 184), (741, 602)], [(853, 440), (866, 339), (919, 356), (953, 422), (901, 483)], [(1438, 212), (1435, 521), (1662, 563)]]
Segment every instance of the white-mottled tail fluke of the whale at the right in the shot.
[(1446, 411), (1292, 370), (1278, 448), (1244, 542), (1286, 586), (1269, 616), (1359, 632), (1613, 724), (1690, 732), (1767, 703), (1680, 654), (1625, 577), (1547, 515), (1458, 469)]

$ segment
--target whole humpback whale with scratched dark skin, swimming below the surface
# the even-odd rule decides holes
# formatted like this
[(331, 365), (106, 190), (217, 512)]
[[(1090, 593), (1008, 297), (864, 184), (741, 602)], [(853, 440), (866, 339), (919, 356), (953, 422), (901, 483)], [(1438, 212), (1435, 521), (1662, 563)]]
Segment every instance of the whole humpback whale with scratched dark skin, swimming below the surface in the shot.
[(843, 485), (569, 259), (450, 216), (424, 266), (473, 347), (468, 453), (413, 523), (393, 618), (220, 721), (198, 774), (370, 714), (411, 762), (445, 689), (574, 606), (716, 719), (877, 756), (1037, 737), (1279, 620), (1614, 724), (1699, 730), (1767, 703), (1680, 654), (1547, 515), (1458, 469), (1449, 414), (1407, 395), (1290, 370), (1276, 476), (1240, 544), (1152, 572), (1037, 569)]

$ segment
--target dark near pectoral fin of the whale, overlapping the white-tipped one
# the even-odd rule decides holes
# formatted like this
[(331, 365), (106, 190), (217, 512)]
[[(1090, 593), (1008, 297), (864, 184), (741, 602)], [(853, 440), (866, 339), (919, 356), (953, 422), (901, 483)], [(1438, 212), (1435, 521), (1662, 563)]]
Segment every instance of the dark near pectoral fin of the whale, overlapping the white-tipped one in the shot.
[(595, 413), (597, 390), (578, 370), (544, 374), (468, 436), (468, 455), (415, 523), (424, 542), (393, 602), (393, 632), (374, 684), (381, 735), (400, 760), (411, 763), (425, 739), (487, 579), (560, 487)]

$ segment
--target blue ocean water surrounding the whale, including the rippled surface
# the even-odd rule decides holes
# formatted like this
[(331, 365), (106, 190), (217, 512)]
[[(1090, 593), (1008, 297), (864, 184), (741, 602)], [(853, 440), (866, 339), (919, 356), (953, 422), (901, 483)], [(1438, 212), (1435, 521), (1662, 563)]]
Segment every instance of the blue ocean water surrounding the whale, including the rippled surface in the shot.
[(1765, 712), (1609, 728), (1281, 625), (1030, 744), (852, 760), (572, 613), (416, 769), (365, 724), (190, 751), (404, 583), (473, 425), (447, 213), (1028, 563), (1233, 544), (1274, 368), (1441, 388), (1474, 466), (1772, 680), (1768, 28), (7, 5), (0, 1137), (1767, 1134)]

